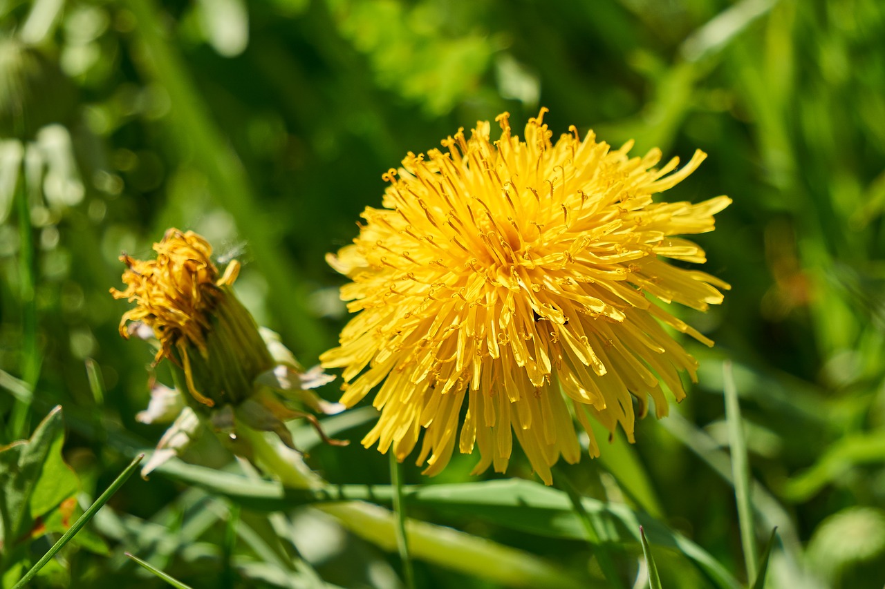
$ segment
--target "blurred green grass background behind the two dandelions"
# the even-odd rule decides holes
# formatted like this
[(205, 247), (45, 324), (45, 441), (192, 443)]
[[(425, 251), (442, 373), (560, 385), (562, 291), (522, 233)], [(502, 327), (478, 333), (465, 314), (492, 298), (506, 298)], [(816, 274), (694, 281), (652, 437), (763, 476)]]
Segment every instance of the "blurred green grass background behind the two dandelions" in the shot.
[[(119, 338), (127, 305), (108, 289), (120, 286), (120, 252), (149, 255), (169, 226), (244, 261), (242, 300), (312, 365), (345, 320), (342, 278), (324, 255), (355, 236), (366, 205), (381, 203), (381, 173), (459, 126), (510, 111), (519, 129), (543, 105), (555, 134), (573, 124), (615, 146), (635, 139), (634, 153), (658, 146), (686, 161), (703, 149), (707, 161), (666, 198), (734, 199), (715, 233), (696, 240), (708, 252), (704, 270), (733, 290), (705, 315), (680, 311), (716, 340), (712, 349), (686, 342), (700, 384), (673, 417), (637, 425), (627, 451), (638, 473), (617, 473), (617, 443), (601, 461), (563, 471), (612, 501), (630, 477), (644, 481), (659, 519), (740, 570), (721, 394), (730, 358), (759, 538), (774, 525), (781, 533), (767, 586), (878, 589), (883, 40), (876, 0), (4, 0), (0, 442), (27, 437), (63, 405), (65, 457), (94, 497), (128, 462), (121, 436), (143, 447), (158, 439), (162, 428), (134, 418), (147, 402), (151, 352)], [(97, 398), (88, 358), (104, 381)], [(322, 390), (336, 393), (335, 384)], [(355, 421), (337, 435), (359, 440), (369, 425)], [(189, 460), (211, 461), (199, 452)], [(410, 465), (406, 482), (475, 480), (474, 460), (456, 456), (433, 480)], [(332, 482), (389, 482), (386, 457), (358, 444), (317, 447), (310, 463)], [(520, 459), (508, 474), (531, 477)], [(130, 480), (110, 505), (92, 528), (109, 552), (72, 551), (69, 567), (42, 583), (129, 586), (142, 574), (122, 556), (129, 550), (193, 586), (301, 586), (285, 585), (272, 564), (219, 568), (226, 508), (160, 474)], [(580, 541), (412, 515), (578, 578), (594, 574)], [(264, 516), (242, 517), (260, 527)], [(396, 555), (311, 511), (296, 522), (296, 547), (327, 580), (401, 582)], [(626, 550), (621, 562), (629, 558)], [(675, 557), (661, 560), (673, 561), (665, 586), (708, 586)], [(621, 566), (627, 575), (638, 565)], [(419, 586), (490, 586), (422, 562), (416, 574)]]

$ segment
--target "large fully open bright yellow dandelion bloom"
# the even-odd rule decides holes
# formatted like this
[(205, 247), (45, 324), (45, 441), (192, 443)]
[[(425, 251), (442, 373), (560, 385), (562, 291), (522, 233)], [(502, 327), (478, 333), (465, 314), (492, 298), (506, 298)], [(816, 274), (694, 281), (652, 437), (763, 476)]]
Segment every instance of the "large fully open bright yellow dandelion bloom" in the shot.
[(722, 302), (726, 283), (664, 258), (703, 263), (703, 249), (673, 236), (712, 231), (731, 201), (652, 199), (704, 153), (677, 171), (678, 158), (656, 167), (658, 149), (628, 157), (631, 144), (581, 141), (573, 126), (553, 143), (544, 112), (524, 141), (504, 113), (496, 142), (479, 122), (469, 139), (459, 130), (443, 141), (446, 153), (410, 152), (384, 175), (383, 208), (366, 208), (354, 243), (328, 256), (352, 280), (341, 295), (358, 315), (322, 363), (344, 368), (347, 406), (383, 381), (381, 417), (363, 444), (392, 446), (403, 460), (424, 429), (427, 474), (443, 470), (456, 443), (463, 453), (479, 446), (474, 472), (504, 471), (515, 432), (550, 484), (560, 455), (579, 460), (573, 417), (598, 455), (589, 417), (633, 441), (634, 401), (644, 414), (650, 396), (661, 417), (664, 386), (685, 396), (679, 372), (694, 379), (697, 363), (661, 324), (712, 345), (658, 302)]

